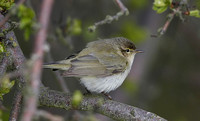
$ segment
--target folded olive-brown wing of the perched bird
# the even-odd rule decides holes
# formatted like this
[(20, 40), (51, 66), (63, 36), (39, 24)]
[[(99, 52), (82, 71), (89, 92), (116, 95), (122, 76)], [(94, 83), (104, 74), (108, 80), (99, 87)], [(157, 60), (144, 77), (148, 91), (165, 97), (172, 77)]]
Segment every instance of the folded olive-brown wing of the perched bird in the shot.
[(71, 60), (71, 67), (62, 76), (108, 76), (123, 72), (126, 68), (124, 59), (116, 54), (99, 56), (88, 54)]

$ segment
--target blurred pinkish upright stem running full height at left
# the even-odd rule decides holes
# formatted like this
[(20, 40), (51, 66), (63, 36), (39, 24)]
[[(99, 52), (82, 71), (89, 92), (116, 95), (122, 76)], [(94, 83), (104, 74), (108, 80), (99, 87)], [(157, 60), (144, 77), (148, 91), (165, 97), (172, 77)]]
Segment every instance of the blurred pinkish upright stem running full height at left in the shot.
[(47, 36), (47, 28), (51, 13), (51, 8), (54, 0), (43, 0), (41, 5), (41, 14), (39, 17), (39, 23), (41, 24), (41, 28), (38, 31), (35, 39), (34, 53), (32, 56), (33, 59), (33, 67), (31, 70), (31, 79), (30, 85), (28, 86), (28, 94), (25, 96), (25, 105), (24, 105), (24, 113), (22, 115), (22, 121), (31, 121), (36, 108), (39, 94), (39, 85), (40, 85), (40, 77), (41, 77), (41, 68), (43, 63), (43, 55), (44, 55), (44, 43), (46, 41)]

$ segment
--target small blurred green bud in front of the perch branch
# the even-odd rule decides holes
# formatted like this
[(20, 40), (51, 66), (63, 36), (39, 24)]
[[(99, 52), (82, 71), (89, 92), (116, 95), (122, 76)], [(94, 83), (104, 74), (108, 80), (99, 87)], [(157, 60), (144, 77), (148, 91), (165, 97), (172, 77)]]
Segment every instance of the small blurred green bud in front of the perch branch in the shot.
[(72, 106), (77, 107), (83, 99), (83, 95), (79, 90), (76, 90), (72, 97)]

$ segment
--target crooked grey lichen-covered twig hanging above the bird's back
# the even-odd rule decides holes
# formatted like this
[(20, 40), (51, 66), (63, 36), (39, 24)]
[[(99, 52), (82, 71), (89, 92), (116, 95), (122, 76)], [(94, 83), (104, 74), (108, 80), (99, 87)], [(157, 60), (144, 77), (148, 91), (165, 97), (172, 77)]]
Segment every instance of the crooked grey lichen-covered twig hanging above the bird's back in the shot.
[(94, 25), (88, 27), (90, 32), (94, 32), (99, 25), (110, 24), (114, 20), (117, 21), (119, 19), (119, 17), (129, 14), (128, 9), (124, 6), (124, 4), (120, 0), (115, 0), (115, 2), (119, 6), (120, 11), (114, 16), (107, 15), (104, 20), (96, 22), (96, 23), (94, 23)]

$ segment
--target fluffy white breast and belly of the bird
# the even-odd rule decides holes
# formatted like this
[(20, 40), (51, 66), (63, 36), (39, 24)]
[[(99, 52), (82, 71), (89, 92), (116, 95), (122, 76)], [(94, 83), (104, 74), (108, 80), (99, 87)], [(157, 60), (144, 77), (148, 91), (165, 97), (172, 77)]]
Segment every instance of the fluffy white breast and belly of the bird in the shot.
[(97, 78), (97, 77), (82, 77), (81, 84), (83, 84), (89, 91), (96, 92), (96, 93), (108, 93), (112, 90), (118, 88), (125, 78), (127, 77), (128, 73), (131, 70), (131, 66), (134, 60), (133, 55), (130, 58), (130, 65), (126, 71), (121, 74), (115, 74), (112, 76), (104, 77), (104, 78)]

